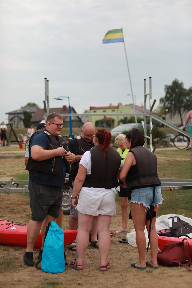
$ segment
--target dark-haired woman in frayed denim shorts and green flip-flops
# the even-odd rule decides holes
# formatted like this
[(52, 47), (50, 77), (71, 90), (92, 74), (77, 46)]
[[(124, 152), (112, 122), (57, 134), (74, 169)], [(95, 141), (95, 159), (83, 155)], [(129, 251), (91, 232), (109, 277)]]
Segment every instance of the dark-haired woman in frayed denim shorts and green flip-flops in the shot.
[[(130, 150), (125, 158), (120, 179), (123, 187), (128, 187), (131, 193), (131, 216), (136, 231), (136, 243), (139, 261), (131, 266), (140, 270), (147, 267), (158, 268), (157, 251), (158, 235), (155, 229), (156, 215), (159, 204), (162, 204), (161, 181), (157, 175), (157, 157), (154, 153), (144, 148), (145, 137), (141, 131), (134, 128), (126, 135), (127, 148)], [(151, 259), (146, 262), (146, 237), (145, 226), (149, 235), (149, 212), (154, 207), (150, 232)], [(151, 210), (150, 210), (151, 209)]]

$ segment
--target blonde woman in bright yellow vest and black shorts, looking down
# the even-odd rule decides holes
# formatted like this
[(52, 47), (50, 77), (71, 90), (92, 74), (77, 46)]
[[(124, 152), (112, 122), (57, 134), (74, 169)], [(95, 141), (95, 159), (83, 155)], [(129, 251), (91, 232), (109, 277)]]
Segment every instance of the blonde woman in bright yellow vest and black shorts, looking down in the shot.
[[(115, 143), (119, 147), (117, 149), (117, 152), (121, 156), (121, 160), (124, 163), (125, 157), (128, 154), (128, 149), (127, 149), (127, 144), (126, 144), (126, 139), (124, 134), (119, 134), (115, 138)], [(119, 180), (119, 184), (122, 183), (121, 180)], [(122, 228), (119, 230), (115, 231), (115, 234), (125, 234), (128, 232), (128, 227), (127, 227), (127, 221), (128, 221), (128, 188), (124, 188), (120, 185), (120, 191), (119, 193), (119, 200), (121, 204), (121, 215), (122, 215)]]

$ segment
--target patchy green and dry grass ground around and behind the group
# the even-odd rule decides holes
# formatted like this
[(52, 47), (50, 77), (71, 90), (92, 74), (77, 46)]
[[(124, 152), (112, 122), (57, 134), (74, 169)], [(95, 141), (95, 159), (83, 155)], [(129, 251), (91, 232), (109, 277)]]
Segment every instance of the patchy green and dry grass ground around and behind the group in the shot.
[[(6, 147), (2, 147), (6, 149)], [(10, 148), (10, 147), (8, 147)], [(156, 150), (158, 158), (158, 176), (160, 178), (181, 178), (191, 179), (192, 152), (187, 150)], [(27, 180), (28, 173), (24, 167), (24, 159), (0, 159), (3, 169), (0, 171), (0, 181), (10, 180), (12, 176), (15, 180)], [(6, 178), (6, 179), (5, 179)], [(160, 205), (158, 216), (163, 214), (184, 214), (192, 218), (192, 190), (162, 191), (164, 198)], [(110, 229), (114, 232), (121, 225), (121, 207), (118, 196), (116, 197), (116, 215), (112, 217)], [(21, 223), (28, 223), (30, 219), (29, 194), (10, 193), (10, 195), (0, 193), (0, 218), (13, 220)], [(63, 229), (68, 229), (68, 215), (63, 215)], [(132, 220), (128, 220), (129, 232), (134, 229)], [(124, 235), (116, 235), (111, 239), (111, 250), (109, 262), (111, 269), (101, 273), (98, 270), (99, 251), (91, 248), (86, 250), (83, 271), (74, 271), (69, 266), (60, 274), (47, 274), (35, 267), (26, 267), (22, 264), (22, 256), (25, 253), (24, 247), (11, 247), (0, 245), (0, 288), (63, 288), (82, 286), (86, 288), (111, 286), (121, 287), (143, 287), (149, 286), (161, 288), (166, 286), (175, 288), (185, 283), (191, 286), (191, 272), (184, 267), (165, 267), (159, 265), (159, 269), (146, 269), (139, 271), (130, 267), (131, 262), (138, 259), (137, 248), (129, 244), (118, 243)], [(34, 259), (39, 250), (34, 249)], [(65, 247), (66, 259), (70, 263), (74, 261), (75, 253)], [(149, 260), (150, 251), (146, 254), (146, 261)]]

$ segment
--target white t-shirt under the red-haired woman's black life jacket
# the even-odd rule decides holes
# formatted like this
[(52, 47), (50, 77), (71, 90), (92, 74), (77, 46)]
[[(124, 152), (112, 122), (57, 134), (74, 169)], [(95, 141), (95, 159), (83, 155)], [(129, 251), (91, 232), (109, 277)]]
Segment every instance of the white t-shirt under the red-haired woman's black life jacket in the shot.
[[(87, 169), (87, 175), (90, 175), (91, 174), (91, 152), (90, 150), (89, 151), (86, 151), (80, 162), (79, 162), (79, 165), (82, 165), (83, 167), (85, 167)], [(121, 165), (119, 167), (119, 170), (121, 170), (123, 167), (123, 162), (121, 161)], [(89, 188), (89, 187), (82, 187), (81, 188), (82, 190), (86, 191), (86, 192), (89, 192), (89, 193), (101, 193), (101, 192), (104, 192), (106, 191), (107, 189), (105, 188)], [(116, 191), (116, 187), (114, 188), (111, 188), (110, 190), (112, 190), (113, 192), (115, 192), (115, 194), (117, 193)]]

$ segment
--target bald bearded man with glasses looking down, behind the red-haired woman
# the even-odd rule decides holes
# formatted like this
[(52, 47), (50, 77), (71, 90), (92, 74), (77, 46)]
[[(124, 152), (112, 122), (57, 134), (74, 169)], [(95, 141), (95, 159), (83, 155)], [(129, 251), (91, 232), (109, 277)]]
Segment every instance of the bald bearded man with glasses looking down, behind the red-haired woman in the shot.
[[(69, 151), (72, 153), (72, 155), (65, 156), (65, 159), (67, 161), (70, 161), (70, 164), (71, 164), (71, 172), (69, 176), (69, 185), (70, 185), (69, 229), (70, 230), (77, 230), (78, 228), (78, 211), (75, 210), (75, 208), (73, 207), (71, 203), (74, 180), (78, 173), (79, 161), (81, 160), (82, 155), (94, 146), (93, 144), (94, 134), (95, 134), (94, 125), (91, 122), (86, 122), (82, 127), (81, 135), (74, 137), (67, 143)], [(91, 244), (92, 246), (98, 247), (96, 218), (94, 219), (92, 228), (91, 228)], [(69, 249), (72, 251), (76, 250), (75, 241), (69, 244)]]

